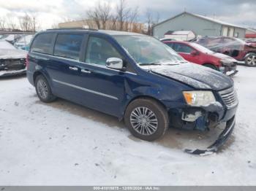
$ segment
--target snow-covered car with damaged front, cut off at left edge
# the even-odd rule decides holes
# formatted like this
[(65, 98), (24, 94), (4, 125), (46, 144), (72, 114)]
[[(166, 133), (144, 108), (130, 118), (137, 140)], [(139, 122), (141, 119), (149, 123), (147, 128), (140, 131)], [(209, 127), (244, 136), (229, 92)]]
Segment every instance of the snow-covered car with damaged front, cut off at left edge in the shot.
[(0, 77), (26, 74), (26, 51), (0, 40)]

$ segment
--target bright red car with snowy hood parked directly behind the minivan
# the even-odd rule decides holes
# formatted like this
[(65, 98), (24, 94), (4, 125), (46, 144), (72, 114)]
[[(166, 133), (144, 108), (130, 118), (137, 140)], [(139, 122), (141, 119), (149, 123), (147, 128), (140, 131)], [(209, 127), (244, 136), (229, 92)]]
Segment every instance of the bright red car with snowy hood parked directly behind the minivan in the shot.
[(213, 52), (206, 47), (195, 42), (165, 41), (169, 47), (178, 52), (185, 60), (197, 63), (217, 71), (227, 74), (236, 74), (236, 59), (221, 53)]

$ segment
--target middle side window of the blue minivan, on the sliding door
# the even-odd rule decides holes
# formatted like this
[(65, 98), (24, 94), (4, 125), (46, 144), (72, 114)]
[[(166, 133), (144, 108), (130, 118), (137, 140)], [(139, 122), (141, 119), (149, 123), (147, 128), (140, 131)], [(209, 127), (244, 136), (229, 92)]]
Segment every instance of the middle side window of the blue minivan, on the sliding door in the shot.
[(53, 55), (79, 60), (83, 34), (58, 34)]

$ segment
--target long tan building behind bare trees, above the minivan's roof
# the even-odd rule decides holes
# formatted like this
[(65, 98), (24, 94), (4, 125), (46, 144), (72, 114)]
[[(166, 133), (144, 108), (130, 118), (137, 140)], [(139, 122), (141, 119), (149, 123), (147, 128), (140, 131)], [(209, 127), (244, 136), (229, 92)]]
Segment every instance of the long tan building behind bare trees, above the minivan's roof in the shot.
[[(59, 28), (94, 28), (94, 29), (100, 28), (105, 30), (118, 30), (120, 28), (120, 22), (107, 20), (105, 23), (105, 26), (103, 26), (103, 23), (101, 21), (99, 21), (97, 25), (97, 23), (94, 20), (86, 19), (86, 20), (75, 20), (75, 21), (59, 23), (58, 26)], [(129, 22), (123, 23), (124, 31), (140, 33), (144, 30), (144, 28), (145, 26), (143, 23), (129, 23)]]

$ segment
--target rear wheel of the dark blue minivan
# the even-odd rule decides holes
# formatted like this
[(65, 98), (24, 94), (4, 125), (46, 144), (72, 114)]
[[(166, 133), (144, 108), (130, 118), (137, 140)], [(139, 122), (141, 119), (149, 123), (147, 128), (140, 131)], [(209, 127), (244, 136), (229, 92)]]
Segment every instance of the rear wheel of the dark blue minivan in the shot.
[(50, 90), (50, 85), (45, 77), (42, 75), (37, 76), (34, 84), (36, 87), (37, 96), (42, 102), (50, 103), (56, 99), (56, 96), (53, 95), (52, 91)]

